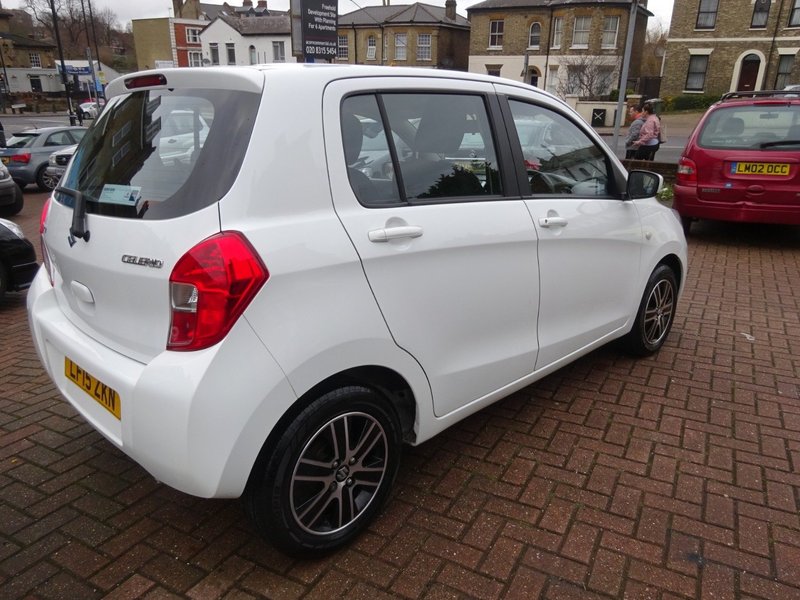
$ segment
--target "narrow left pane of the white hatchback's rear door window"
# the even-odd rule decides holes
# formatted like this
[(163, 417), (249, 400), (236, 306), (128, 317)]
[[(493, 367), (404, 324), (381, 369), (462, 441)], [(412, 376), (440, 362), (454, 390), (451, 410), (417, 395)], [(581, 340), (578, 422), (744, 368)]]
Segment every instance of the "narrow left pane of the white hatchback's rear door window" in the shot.
[[(389, 140), (383, 127), (374, 95), (350, 96), (342, 103), (342, 140), (350, 186), (365, 206), (380, 206), (400, 201), (394, 178)], [(401, 156), (408, 146), (395, 136)]]

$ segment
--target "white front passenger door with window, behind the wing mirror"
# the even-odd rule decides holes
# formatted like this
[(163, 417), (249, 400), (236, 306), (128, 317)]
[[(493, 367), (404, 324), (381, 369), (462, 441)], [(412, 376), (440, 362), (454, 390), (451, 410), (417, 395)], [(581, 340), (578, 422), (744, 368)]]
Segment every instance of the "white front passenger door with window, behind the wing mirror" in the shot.
[(555, 105), (510, 97), (505, 106), (539, 238), (540, 369), (628, 322), (642, 228), (604, 146)]

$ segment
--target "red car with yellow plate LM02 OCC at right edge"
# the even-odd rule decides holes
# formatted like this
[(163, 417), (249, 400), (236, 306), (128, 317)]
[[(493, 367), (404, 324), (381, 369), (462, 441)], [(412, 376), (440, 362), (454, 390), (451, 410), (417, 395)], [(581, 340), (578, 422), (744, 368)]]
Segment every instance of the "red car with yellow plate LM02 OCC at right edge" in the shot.
[(696, 219), (800, 225), (800, 96), (723, 95), (686, 142), (673, 191), (687, 233)]

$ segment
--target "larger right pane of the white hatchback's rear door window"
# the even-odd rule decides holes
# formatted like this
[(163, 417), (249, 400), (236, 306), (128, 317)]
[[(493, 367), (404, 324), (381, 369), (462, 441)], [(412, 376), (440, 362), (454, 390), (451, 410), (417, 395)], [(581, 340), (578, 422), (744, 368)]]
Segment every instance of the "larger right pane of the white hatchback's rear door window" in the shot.
[(389, 129), (408, 146), (398, 153), (407, 200), (502, 194), (497, 153), (482, 96), (385, 94)]

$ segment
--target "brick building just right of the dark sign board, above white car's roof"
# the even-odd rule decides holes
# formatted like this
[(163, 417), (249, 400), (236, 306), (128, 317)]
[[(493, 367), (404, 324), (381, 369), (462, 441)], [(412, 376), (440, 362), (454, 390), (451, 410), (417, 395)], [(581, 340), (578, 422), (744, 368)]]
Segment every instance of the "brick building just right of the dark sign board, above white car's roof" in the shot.
[(467, 70), (469, 22), (445, 7), (369, 6), (339, 15), (336, 62)]

